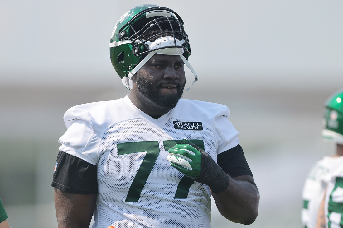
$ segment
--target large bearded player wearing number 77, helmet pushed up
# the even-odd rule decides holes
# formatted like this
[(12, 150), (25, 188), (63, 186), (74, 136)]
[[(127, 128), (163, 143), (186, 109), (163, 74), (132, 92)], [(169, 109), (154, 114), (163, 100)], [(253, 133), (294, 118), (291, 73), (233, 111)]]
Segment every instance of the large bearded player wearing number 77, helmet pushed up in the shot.
[(64, 115), (51, 184), (59, 227), (88, 227), (93, 214), (93, 228), (210, 227), (211, 194), (227, 219), (256, 219), (259, 193), (228, 107), (180, 99), (185, 65), (198, 80), (190, 54), (173, 10), (139, 5), (119, 19), (110, 59), (131, 91)]

